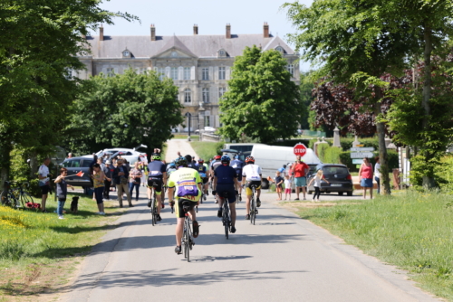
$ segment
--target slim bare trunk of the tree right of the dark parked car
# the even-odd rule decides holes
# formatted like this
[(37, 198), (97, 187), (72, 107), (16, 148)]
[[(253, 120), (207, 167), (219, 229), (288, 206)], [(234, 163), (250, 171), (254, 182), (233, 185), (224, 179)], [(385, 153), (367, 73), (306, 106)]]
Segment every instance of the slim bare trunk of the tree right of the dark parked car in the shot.
[[(376, 88), (376, 102), (374, 103), (374, 115), (376, 119), (381, 115), (381, 95), (380, 88)], [(378, 132), (379, 142), (379, 163), (381, 164), (381, 192), (384, 195), (390, 194), (390, 178), (389, 178), (389, 160), (387, 156), (387, 146), (385, 146), (385, 124), (376, 122), (376, 130)]]

